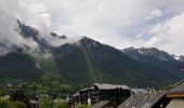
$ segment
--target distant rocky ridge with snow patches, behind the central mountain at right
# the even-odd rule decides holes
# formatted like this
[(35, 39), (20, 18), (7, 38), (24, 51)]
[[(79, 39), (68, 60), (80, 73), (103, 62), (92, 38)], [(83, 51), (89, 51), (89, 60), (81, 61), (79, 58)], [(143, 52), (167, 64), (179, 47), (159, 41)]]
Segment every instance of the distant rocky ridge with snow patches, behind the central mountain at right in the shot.
[(166, 69), (171, 73), (179, 76), (181, 79), (183, 78), (183, 72), (181, 72), (181, 70), (179, 70), (176, 67), (179, 65), (183, 65), (184, 63), (175, 59), (173, 55), (170, 55), (165, 51), (160, 51), (156, 48), (128, 48), (122, 50), (122, 52), (129, 57), (136, 59), (143, 64)]

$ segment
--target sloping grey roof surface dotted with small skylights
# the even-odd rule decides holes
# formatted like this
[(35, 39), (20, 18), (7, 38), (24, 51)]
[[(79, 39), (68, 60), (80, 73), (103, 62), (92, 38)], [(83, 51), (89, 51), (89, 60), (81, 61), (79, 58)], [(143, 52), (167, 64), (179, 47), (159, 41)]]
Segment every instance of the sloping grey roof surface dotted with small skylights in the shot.
[(140, 93), (129, 97), (118, 108), (150, 108), (165, 93)]

